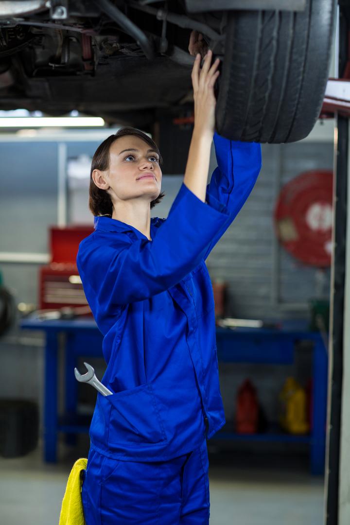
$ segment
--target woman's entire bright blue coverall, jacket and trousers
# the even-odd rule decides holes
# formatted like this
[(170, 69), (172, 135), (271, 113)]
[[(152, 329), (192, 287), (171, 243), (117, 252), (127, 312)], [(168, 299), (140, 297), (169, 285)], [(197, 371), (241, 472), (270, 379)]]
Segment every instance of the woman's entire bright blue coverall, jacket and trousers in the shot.
[(214, 134), (218, 167), (202, 202), (182, 183), (151, 241), (94, 217), (77, 266), (102, 334), (107, 369), (97, 395), (82, 499), (87, 525), (209, 522), (206, 439), (225, 424), (213, 288), (205, 264), (250, 194), (257, 143)]

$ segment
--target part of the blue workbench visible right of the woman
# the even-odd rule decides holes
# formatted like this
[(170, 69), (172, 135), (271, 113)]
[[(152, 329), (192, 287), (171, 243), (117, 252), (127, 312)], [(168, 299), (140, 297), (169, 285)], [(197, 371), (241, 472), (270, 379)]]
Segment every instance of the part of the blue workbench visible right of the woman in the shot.
[(310, 445), (311, 472), (322, 475), (325, 462), (328, 366), (327, 348), (322, 335), (319, 332), (310, 332), (307, 330), (307, 323), (300, 321), (286, 321), (281, 329), (216, 328), (218, 361), (224, 363), (292, 364), (295, 344), (299, 341), (313, 343), (313, 423), (310, 434), (292, 435), (277, 429), (274, 432), (242, 435), (227, 432), (224, 427), (213, 439), (307, 443)]

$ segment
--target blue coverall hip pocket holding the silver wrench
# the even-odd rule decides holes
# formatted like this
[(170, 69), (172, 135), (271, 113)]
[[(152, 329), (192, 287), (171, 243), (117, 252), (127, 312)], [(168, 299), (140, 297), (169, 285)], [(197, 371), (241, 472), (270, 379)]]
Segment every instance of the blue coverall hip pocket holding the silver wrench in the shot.
[(105, 396), (111, 403), (108, 443), (128, 445), (166, 442), (151, 383)]

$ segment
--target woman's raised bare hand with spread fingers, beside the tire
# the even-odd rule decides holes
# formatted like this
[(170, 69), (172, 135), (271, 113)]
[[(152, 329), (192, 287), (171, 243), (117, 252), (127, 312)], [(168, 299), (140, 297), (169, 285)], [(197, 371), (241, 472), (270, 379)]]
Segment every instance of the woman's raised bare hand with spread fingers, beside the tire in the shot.
[(220, 59), (217, 58), (211, 64), (213, 52), (208, 50), (204, 58), (203, 67), (200, 68), (200, 54), (195, 58), (192, 68), (192, 85), (195, 122), (194, 131), (199, 134), (209, 134), (213, 137), (215, 131), (215, 106), (216, 98), (214, 95), (214, 84), (219, 76), (218, 65)]

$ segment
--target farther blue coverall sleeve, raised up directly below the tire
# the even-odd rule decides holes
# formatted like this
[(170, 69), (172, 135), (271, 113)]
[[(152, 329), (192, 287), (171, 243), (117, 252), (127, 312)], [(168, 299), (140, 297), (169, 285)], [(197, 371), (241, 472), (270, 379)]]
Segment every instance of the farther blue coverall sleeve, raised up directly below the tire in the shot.
[(206, 259), (246, 202), (261, 169), (261, 146), (239, 142), (214, 134), (218, 167), (207, 185), (206, 202), (227, 214), (226, 222), (216, 230), (204, 254)]

